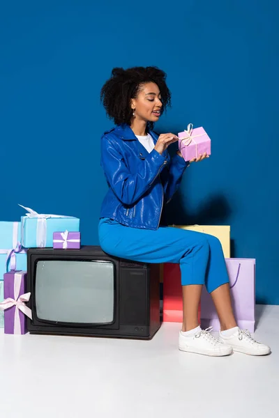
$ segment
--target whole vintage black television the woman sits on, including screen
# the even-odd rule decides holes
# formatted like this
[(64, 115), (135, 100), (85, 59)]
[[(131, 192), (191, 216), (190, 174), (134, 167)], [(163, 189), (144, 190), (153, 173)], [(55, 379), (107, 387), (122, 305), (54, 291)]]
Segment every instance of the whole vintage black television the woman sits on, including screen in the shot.
[(160, 327), (159, 265), (100, 247), (27, 252), (31, 334), (151, 339)]

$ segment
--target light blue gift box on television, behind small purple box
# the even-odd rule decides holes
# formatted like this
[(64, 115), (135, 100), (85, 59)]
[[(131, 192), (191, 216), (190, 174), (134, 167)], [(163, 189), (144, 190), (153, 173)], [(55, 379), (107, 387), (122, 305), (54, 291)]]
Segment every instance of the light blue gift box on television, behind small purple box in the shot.
[(29, 208), (24, 209), (29, 212), (21, 218), (21, 242), (25, 248), (52, 248), (54, 232), (80, 232), (80, 219), (77, 217), (44, 215)]

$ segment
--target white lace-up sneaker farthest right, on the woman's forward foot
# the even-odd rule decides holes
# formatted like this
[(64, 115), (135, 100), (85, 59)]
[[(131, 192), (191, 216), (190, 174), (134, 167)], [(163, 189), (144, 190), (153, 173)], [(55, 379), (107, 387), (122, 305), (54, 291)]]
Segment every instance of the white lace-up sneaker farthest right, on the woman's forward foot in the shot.
[(234, 351), (249, 355), (266, 355), (271, 353), (271, 348), (252, 338), (247, 330), (238, 330), (232, 336), (224, 336), (219, 331), (219, 340), (232, 346)]

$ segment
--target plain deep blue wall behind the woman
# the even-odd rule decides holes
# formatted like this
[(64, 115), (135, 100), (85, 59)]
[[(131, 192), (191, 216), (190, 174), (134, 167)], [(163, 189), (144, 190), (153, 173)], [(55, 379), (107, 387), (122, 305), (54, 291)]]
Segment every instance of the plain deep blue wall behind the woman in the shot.
[(107, 185), (100, 88), (114, 66), (167, 72), (172, 109), (156, 125), (206, 128), (169, 222), (229, 224), (233, 254), (257, 258), (257, 302), (279, 304), (278, 6), (274, 1), (6, 1), (0, 13), (0, 219), (21, 203), (81, 219), (98, 245)]

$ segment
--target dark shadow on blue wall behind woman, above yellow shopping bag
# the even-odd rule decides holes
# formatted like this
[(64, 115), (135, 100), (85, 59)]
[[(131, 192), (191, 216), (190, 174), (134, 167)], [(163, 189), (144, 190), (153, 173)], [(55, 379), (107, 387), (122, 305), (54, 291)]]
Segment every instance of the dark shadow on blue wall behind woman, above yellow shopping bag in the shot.
[[(227, 219), (231, 213), (229, 201), (222, 194), (211, 196), (211, 199), (202, 203), (195, 214), (187, 212), (180, 191), (176, 192), (165, 206), (165, 220), (168, 225), (229, 225)], [(231, 240), (231, 257), (235, 256), (234, 240)]]

